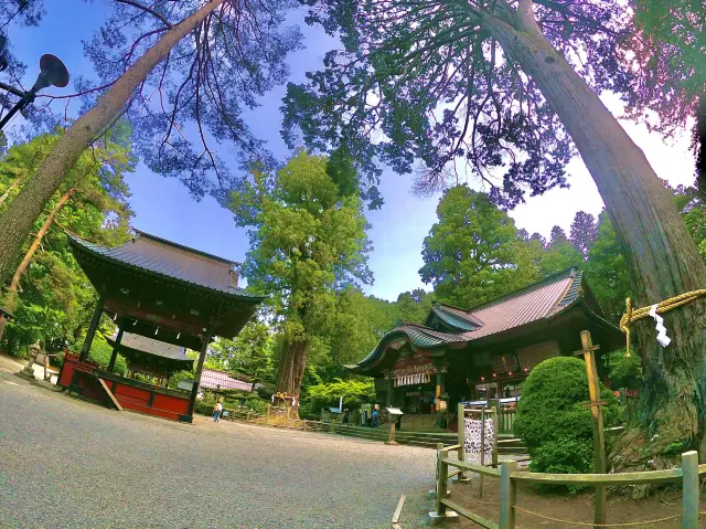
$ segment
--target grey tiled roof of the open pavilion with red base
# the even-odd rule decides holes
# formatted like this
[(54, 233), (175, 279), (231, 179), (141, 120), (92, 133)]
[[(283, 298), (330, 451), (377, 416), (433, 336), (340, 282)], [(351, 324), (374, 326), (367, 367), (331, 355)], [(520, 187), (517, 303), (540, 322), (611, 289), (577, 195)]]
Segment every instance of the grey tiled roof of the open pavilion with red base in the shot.
[(117, 247), (105, 247), (69, 234), (74, 246), (118, 263), (238, 297), (261, 299), (237, 287), (235, 262), (136, 231), (136, 236)]

